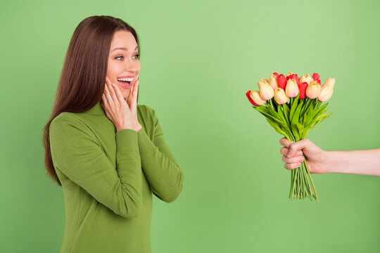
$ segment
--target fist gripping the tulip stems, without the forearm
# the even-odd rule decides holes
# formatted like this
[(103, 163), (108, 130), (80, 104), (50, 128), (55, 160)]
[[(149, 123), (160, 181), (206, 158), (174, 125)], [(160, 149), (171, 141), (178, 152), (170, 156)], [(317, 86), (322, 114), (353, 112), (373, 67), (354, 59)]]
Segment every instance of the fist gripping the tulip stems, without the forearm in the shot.
[(326, 151), (319, 148), (308, 139), (301, 141), (288, 141), (286, 138), (281, 138), (281, 154), (284, 155), (282, 160), (285, 162), (286, 169), (296, 169), (300, 167), (304, 157), (308, 162), (310, 173), (325, 173), (324, 160), (326, 160)]

